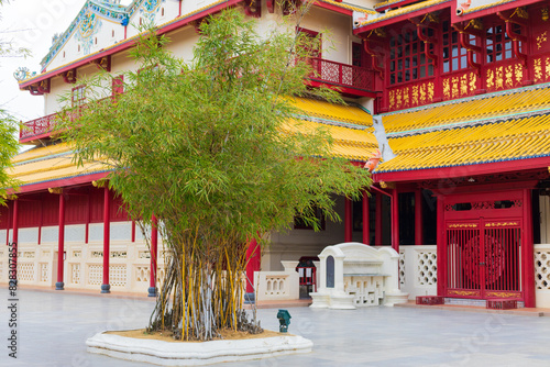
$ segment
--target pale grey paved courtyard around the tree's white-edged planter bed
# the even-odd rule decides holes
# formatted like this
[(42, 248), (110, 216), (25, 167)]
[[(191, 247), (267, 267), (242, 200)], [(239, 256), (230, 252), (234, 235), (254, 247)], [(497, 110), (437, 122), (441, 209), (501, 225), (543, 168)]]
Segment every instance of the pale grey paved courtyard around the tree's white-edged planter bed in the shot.
[[(8, 300), (6, 287), (1, 292)], [(25, 289), (18, 296), (18, 359), (3, 346), (0, 366), (153, 366), (88, 354), (85, 345), (99, 331), (144, 327), (152, 300)], [(288, 310), (289, 331), (312, 340), (312, 353), (220, 366), (550, 366), (550, 318), (384, 307)], [(262, 326), (277, 330), (276, 313), (258, 310)]]

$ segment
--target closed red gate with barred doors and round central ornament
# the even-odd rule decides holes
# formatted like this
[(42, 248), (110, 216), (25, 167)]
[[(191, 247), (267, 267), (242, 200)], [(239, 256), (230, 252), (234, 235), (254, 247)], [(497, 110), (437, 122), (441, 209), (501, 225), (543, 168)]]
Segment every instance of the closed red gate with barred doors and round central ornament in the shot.
[(443, 198), (442, 296), (524, 300), (524, 201), (521, 190)]

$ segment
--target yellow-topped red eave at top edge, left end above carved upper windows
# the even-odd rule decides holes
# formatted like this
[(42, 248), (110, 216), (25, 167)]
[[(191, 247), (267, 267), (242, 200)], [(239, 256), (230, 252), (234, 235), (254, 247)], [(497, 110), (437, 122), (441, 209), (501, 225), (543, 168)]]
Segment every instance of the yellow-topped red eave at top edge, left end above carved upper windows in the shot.
[(422, 15), (432, 11), (451, 8), (454, 1), (452, 0), (428, 0), (409, 7), (404, 7), (396, 10), (391, 10), (386, 13), (378, 14), (365, 22), (362, 22), (354, 27), (353, 34), (370, 32), (374, 29), (407, 21), (409, 18)]

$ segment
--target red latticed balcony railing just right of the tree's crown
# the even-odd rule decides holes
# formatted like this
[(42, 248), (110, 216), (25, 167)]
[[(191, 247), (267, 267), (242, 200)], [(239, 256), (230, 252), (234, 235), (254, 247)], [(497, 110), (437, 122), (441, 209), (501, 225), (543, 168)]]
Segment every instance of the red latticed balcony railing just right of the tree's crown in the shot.
[(373, 90), (374, 73), (367, 68), (340, 64), (322, 58), (311, 58), (315, 75), (311, 80), (362, 90)]

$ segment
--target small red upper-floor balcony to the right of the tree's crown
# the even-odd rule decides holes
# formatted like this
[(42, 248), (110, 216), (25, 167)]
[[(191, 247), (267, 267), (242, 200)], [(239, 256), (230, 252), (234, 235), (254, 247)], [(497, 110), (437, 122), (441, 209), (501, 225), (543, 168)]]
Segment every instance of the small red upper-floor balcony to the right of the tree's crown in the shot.
[(310, 58), (315, 75), (309, 78), (312, 87), (326, 86), (352, 97), (375, 97), (374, 71), (367, 68)]

